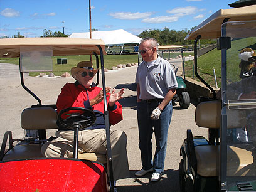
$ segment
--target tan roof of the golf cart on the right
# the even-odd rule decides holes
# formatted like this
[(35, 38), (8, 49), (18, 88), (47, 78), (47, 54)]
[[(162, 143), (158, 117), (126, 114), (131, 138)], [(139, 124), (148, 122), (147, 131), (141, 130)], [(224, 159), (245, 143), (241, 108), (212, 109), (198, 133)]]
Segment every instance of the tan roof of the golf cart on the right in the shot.
[(220, 9), (201, 24), (192, 29), (185, 40), (195, 40), (198, 35), (201, 39), (219, 38), (223, 21), (250, 21), (256, 20), (256, 5), (243, 8)]

